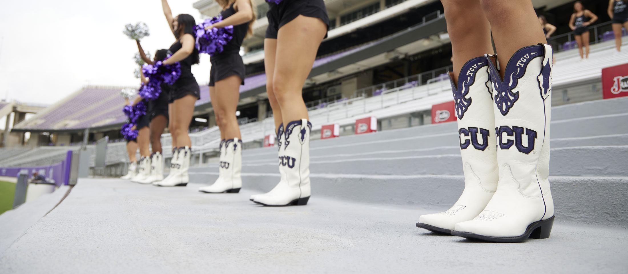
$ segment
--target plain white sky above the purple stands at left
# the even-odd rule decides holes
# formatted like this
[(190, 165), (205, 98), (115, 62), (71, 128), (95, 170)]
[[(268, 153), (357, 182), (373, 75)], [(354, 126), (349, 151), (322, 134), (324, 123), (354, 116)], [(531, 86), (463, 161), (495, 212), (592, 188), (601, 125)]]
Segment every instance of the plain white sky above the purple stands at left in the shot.
[[(173, 15), (192, 14), (198, 23), (195, 1), (169, 4)], [(53, 104), (85, 85), (139, 86), (136, 43), (122, 34), (138, 21), (151, 33), (144, 50), (153, 54), (174, 43), (157, 0), (1, 0), (0, 98)], [(209, 81), (209, 69), (209, 55), (202, 54), (192, 67), (199, 84)]]

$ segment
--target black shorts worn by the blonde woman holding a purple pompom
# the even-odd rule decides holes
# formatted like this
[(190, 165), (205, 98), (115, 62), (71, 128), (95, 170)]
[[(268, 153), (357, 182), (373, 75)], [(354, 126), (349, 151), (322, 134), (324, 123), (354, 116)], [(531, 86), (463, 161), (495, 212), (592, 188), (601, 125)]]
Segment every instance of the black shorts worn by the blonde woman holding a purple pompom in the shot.
[(237, 52), (223, 52), (211, 58), (212, 69), (209, 72), (209, 86), (232, 75), (238, 75), (244, 85), (246, 69), (242, 57)]

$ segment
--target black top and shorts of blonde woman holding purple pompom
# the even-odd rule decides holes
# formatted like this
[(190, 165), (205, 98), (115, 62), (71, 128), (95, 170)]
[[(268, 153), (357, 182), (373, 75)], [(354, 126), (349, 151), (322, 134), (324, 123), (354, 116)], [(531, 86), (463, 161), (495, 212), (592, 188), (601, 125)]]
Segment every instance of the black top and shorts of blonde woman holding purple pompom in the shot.
[[(220, 12), (220, 16), (222, 16), (223, 20), (236, 13), (234, 4), (235, 3), (231, 4), (228, 9)], [(234, 26), (234, 38), (227, 42), (227, 45), (224, 45), (221, 53), (215, 54), (210, 59), (212, 62), (212, 69), (210, 69), (209, 72), (210, 87), (213, 87), (216, 82), (232, 75), (238, 75), (240, 79), (242, 79), (242, 85), (244, 85), (246, 69), (244, 69), (244, 62), (242, 62), (242, 57), (240, 56), (240, 47), (242, 46), (244, 37), (246, 37), (246, 32), (249, 30), (249, 24), (250, 23), (247, 22), (242, 25)]]

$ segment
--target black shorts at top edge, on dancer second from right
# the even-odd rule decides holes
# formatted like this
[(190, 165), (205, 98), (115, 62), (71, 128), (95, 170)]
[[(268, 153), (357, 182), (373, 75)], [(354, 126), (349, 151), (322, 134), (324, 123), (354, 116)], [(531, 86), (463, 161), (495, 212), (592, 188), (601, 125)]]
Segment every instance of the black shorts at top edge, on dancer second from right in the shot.
[[(279, 28), (290, 23), (299, 15), (319, 18), (325, 22), (327, 29), (329, 29), (327, 8), (325, 8), (323, 0), (283, 0), (279, 4), (269, 2), (268, 6), (266, 38), (277, 39)], [(325, 38), (327, 38), (327, 33), (325, 33)]]

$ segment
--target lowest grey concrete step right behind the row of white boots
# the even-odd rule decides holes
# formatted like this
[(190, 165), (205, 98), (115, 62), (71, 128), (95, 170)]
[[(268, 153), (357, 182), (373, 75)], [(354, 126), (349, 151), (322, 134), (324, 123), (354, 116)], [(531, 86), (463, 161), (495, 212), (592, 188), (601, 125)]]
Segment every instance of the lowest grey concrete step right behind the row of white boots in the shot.
[[(190, 181), (213, 184), (217, 172), (190, 171)], [(462, 175), (312, 173), (313, 197), (369, 204), (449, 207), (464, 189)], [(278, 172), (242, 173), (243, 189), (268, 192)], [(556, 219), (628, 228), (628, 177), (550, 176)]]

